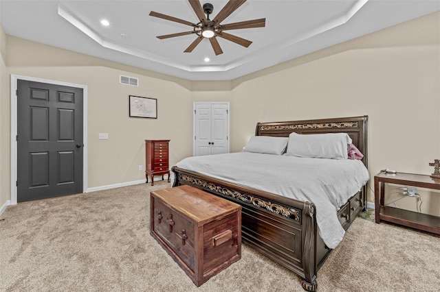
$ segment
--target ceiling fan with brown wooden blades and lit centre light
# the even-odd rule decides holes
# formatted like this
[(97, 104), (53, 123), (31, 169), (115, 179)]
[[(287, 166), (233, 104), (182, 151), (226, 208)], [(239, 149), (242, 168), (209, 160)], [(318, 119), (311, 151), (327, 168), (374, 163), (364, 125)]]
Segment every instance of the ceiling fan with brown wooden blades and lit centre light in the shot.
[[(266, 19), (254, 19), (252, 21), (241, 21), (238, 23), (228, 23), (221, 24), (223, 20), (225, 20), (232, 12), (234, 12), (237, 8), (239, 8), (246, 0), (230, 0), (226, 5), (220, 10), (219, 14), (214, 17), (214, 19), (210, 20), (209, 16), (212, 14), (212, 10), (214, 10), (214, 6), (210, 3), (205, 3), (203, 6), (200, 4), (199, 0), (188, 0), (195, 14), (199, 18), (198, 23), (190, 23), (189, 21), (184, 21), (183, 19), (177, 19), (173, 16), (168, 16), (162, 13), (150, 12), (150, 16), (157, 17), (159, 19), (166, 19), (167, 21), (174, 21), (176, 23), (181, 23), (184, 25), (189, 25), (192, 27), (192, 31), (189, 32), (178, 32), (177, 34), (166, 34), (164, 36), (157, 36), (159, 39), (164, 38), (174, 38), (175, 36), (186, 36), (188, 34), (196, 34), (197, 38), (194, 42), (189, 45), (184, 51), (185, 53), (192, 52), (197, 45), (203, 40), (203, 38), (208, 38), (212, 49), (214, 49), (215, 55), (220, 55), (223, 53), (219, 42), (217, 41), (217, 36), (220, 38), (224, 38), (225, 40), (230, 40), (231, 42), (235, 42), (236, 44), (242, 45), (243, 47), (249, 47), (252, 42), (250, 40), (245, 40), (244, 38), (240, 38), (239, 36), (234, 36), (232, 34), (227, 34), (223, 31), (230, 29), (244, 29), (244, 28), (253, 28), (253, 27), (265, 27)], [(206, 16), (205, 16), (206, 14)]]

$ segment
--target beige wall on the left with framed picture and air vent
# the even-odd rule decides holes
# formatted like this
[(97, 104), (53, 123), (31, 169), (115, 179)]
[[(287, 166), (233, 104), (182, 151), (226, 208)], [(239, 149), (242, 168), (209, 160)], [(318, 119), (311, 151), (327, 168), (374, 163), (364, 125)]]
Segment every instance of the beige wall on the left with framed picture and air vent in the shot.
[[(8, 74), (87, 86), (89, 188), (143, 180), (144, 171), (138, 167), (145, 167), (145, 139), (171, 140), (170, 165), (192, 154), (185, 128), (188, 125), (192, 130), (189, 82), (164, 80), (159, 74), (152, 77), (151, 72), (129, 66), (120, 68), (116, 63), (8, 36)], [(120, 74), (139, 78), (139, 87), (120, 84)], [(156, 98), (157, 119), (130, 118), (129, 95)], [(109, 140), (98, 140), (100, 132), (109, 133)]]

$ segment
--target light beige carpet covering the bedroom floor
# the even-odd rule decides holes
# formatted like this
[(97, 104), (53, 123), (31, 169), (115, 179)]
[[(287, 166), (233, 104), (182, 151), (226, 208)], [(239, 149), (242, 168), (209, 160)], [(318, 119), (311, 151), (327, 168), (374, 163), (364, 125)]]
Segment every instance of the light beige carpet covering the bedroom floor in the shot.
[[(0, 291), (303, 291), (243, 244), (197, 288), (149, 234), (149, 194), (166, 182), (9, 206)], [(440, 291), (440, 236), (358, 218), (318, 271), (318, 291)]]

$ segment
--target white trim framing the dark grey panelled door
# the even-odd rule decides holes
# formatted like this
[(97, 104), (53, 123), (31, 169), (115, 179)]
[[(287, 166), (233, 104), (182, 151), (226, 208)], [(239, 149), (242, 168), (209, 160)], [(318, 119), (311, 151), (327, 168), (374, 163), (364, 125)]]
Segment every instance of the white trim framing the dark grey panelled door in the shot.
[(17, 204), (17, 82), (26, 80), (83, 89), (83, 193), (87, 191), (87, 85), (11, 74), (11, 205)]

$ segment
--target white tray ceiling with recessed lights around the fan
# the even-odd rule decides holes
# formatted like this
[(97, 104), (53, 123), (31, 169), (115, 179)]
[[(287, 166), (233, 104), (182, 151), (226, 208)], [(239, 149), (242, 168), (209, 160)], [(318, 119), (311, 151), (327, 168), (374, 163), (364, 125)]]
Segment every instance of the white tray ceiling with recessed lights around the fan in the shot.
[[(216, 15), (227, 2), (206, 0), (201, 4), (212, 3), (212, 15)], [(184, 53), (195, 35), (156, 38), (191, 28), (148, 16), (152, 10), (198, 22), (185, 0), (1, 0), (0, 21), (8, 35), (54, 47), (187, 80), (232, 80), (439, 11), (440, 1), (249, 0), (222, 23), (265, 18), (266, 26), (233, 31), (252, 41), (248, 48), (217, 38), (223, 49), (219, 56), (206, 39), (192, 53)], [(101, 25), (102, 19), (110, 25)]]

